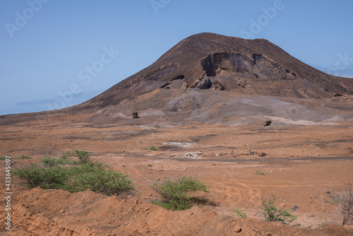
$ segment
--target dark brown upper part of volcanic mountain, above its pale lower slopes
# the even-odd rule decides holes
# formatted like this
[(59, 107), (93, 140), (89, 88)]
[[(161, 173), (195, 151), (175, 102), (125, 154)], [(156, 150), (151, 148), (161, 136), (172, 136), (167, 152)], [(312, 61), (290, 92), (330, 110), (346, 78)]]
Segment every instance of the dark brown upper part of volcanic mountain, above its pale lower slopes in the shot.
[[(352, 95), (353, 81), (318, 71), (268, 40), (200, 33), (182, 40), (152, 65), (72, 110), (112, 107), (123, 100), (161, 89), (332, 98), (335, 94)], [(172, 93), (164, 93), (164, 97)], [(163, 109), (164, 106), (155, 104), (152, 108)]]

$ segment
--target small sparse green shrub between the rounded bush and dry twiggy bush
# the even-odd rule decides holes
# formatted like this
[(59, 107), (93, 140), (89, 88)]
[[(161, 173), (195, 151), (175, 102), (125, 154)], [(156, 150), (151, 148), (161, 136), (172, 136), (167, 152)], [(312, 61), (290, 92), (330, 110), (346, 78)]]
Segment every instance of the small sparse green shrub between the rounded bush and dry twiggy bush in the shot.
[(266, 221), (271, 222), (285, 222), (288, 220), (289, 223), (292, 223), (293, 220), (297, 219), (297, 216), (293, 216), (291, 210), (282, 211), (276, 208), (273, 204), (275, 203), (275, 198), (268, 198), (266, 200), (262, 199), (262, 214), (265, 217)]

